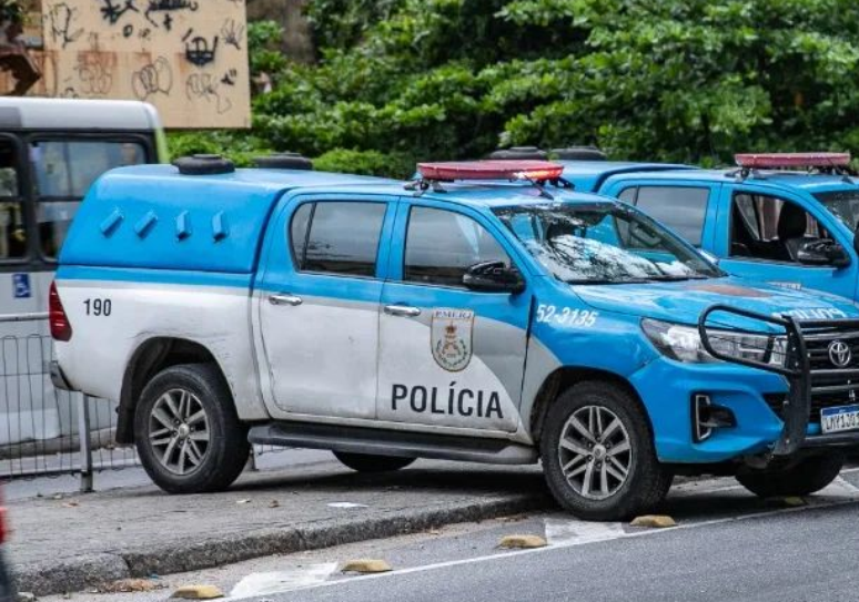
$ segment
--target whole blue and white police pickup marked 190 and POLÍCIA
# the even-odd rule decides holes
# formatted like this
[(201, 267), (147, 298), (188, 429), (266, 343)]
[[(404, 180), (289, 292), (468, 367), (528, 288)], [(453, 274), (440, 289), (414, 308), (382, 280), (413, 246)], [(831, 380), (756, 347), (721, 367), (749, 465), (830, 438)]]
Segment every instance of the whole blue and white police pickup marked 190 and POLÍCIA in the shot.
[(732, 279), (562, 169), (112, 171), (51, 289), (54, 382), (119, 400), (118, 441), (178, 493), (229, 487), (251, 442), (362, 471), (542, 460), (587, 519), (677, 472), (832, 481), (859, 442), (855, 305)]

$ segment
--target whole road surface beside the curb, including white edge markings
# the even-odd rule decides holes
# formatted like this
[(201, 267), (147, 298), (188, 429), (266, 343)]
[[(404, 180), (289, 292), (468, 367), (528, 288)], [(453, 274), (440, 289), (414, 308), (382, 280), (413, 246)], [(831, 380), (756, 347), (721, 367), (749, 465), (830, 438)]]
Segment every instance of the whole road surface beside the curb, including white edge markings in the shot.
[[(732, 479), (713, 479), (675, 488), (664, 511), (678, 527), (637, 529), (537, 513), (169, 575), (154, 581), (163, 589), (98, 600), (163, 601), (186, 583), (214, 583), (229, 594), (245, 580), (252, 594), (230, 600), (859, 601), (857, 469), (804, 506), (765, 502)], [(512, 533), (543, 535), (549, 545), (498, 549)], [(394, 571), (342, 573), (343, 562), (355, 558), (384, 559)], [(88, 592), (71, 596), (93, 599)]]

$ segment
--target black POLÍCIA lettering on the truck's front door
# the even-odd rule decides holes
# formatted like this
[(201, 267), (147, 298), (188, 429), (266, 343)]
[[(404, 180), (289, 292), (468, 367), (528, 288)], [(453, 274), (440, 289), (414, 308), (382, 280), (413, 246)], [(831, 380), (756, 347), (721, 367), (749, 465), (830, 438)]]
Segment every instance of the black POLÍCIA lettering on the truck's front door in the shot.
[(501, 409), (501, 396), (497, 391), (472, 390), (457, 387), (454, 380), (445, 387), (425, 387), (423, 385), (393, 385), (391, 389), (391, 409), (401, 411), (411, 409), (416, 414), (442, 414), (474, 418), (504, 418)]

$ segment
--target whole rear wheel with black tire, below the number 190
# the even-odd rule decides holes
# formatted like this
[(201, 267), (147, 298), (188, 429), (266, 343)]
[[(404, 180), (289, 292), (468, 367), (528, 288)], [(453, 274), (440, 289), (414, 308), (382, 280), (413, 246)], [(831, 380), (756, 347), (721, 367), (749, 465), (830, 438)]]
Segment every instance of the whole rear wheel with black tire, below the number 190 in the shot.
[(134, 440), (146, 473), (169, 493), (226, 489), (251, 452), (247, 428), (212, 364), (172, 366), (155, 375), (134, 410)]

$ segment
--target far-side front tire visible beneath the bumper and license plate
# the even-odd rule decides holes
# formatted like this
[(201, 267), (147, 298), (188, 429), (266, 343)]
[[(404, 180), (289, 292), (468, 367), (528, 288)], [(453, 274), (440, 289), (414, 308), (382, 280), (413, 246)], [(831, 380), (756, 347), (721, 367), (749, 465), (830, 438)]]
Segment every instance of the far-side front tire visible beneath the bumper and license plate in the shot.
[(739, 483), (761, 498), (810, 496), (831, 483), (845, 463), (840, 452), (812, 456), (789, 466), (737, 473)]

